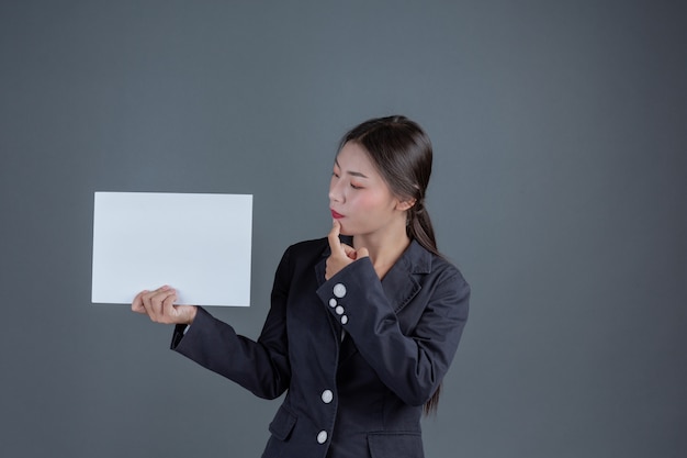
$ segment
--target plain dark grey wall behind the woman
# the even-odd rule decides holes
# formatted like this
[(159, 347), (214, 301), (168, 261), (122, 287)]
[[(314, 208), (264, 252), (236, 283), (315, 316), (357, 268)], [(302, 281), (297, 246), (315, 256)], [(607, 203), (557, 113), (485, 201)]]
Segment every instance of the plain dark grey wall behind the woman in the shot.
[(255, 194), (255, 337), (390, 113), (474, 291), (428, 457), (687, 456), (685, 2), (289, 3), (0, 3), (2, 456), (259, 456), (278, 402), (90, 303), (93, 191)]

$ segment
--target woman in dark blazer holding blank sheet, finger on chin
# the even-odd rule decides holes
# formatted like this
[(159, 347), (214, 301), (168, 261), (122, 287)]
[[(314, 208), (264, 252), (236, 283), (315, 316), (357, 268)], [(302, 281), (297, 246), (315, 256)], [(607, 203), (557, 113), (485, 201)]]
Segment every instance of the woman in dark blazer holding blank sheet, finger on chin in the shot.
[(470, 295), (425, 210), (431, 155), (403, 116), (344, 136), (331, 231), (286, 249), (257, 342), (201, 308), (173, 305), (172, 288), (134, 299), (135, 312), (178, 325), (176, 351), (260, 398), (288, 390), (263, 457), (423, 457), (423, 406), (437, 406)]

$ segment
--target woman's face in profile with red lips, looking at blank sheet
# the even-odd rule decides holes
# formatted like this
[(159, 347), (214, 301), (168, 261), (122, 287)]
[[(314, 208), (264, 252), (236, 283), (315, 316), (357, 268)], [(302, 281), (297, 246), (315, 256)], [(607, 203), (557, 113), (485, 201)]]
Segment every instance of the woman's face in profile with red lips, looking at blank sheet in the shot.
[(357, 143), (346, 143), (334, 161), (329, 208), (344, 235), (371, 235), (394, 224), (405, 227), (407, 206), (391, 192)]

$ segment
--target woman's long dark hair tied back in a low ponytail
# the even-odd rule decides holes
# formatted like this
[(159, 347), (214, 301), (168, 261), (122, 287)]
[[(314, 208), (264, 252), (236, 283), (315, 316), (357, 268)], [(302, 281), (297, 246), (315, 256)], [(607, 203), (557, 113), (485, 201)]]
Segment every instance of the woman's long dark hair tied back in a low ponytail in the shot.
[[(396, 197), (415, 200), (415, 204), (407, 211), (406, 233), (425, 249), (440, 256), (435, 230), (425, 209), (432, 159), (431, 142), (425, 131), (402, 115), (375, 118), (347, 132), (341, 138), (339, 150), (348, 142), (365, 149)], [(425, 403), (425, 414), (437, 411), (440, 391), (441, 384)]]

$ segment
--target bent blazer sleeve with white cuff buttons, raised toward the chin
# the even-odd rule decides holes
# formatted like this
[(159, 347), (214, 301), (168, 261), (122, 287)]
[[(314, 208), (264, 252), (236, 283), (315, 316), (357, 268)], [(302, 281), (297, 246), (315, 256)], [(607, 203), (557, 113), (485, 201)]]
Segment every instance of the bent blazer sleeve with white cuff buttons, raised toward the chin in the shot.
[(317, 290), (378, 377), (409, 405), (421, 405), (435, 393), (468, 320), (470, 287), (460, 271), (447, 264), (435, 273), (406, 305), (424, 308), (408, 335), (395, 313), (398, 304), (390, 302), (369, 258), (347, 266)]

